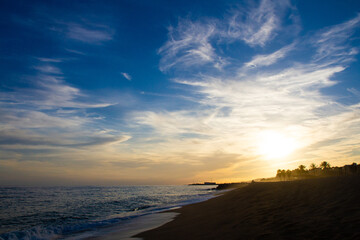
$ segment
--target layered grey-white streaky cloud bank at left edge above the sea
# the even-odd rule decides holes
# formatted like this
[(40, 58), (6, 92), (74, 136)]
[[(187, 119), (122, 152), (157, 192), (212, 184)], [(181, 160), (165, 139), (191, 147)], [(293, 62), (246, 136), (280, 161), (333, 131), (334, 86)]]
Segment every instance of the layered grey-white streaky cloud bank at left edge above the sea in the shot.
[(24, 148), (33, 152), (48, 148), (86, 148), (131, 138), (93, 127), (99, 120), (87, 115), (86, 109), (113, 103), (93, 103), (80, 89), (66, 83), (60, 68), (52, 65), (57, 61), (40, 61), (46, 65), (34, 67), (37, 73), (26, 78), (30, 83), (28, 88), (0, 92), (0, 151), (23, 156), (21, 149)]

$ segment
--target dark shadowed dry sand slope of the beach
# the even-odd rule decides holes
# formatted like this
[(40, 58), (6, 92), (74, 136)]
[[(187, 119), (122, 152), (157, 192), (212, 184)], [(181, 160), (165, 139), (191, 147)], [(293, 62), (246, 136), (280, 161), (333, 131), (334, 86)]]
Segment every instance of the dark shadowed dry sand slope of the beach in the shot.
[(360, 239), (360, 177), (253, 183), (175, 210), (145, 240)]

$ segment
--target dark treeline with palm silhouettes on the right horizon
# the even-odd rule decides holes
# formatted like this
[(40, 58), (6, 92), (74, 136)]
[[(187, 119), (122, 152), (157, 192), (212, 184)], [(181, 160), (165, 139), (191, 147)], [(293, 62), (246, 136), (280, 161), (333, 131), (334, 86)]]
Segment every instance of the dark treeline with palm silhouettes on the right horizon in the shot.
[(276, 173), (276, 178), (282, 181), (327, 177), (327, 176), (349, 176), (360, 175), (360, 165), (353, 163), (351, 165), (344, 165), (343, 167), (332, 167), (330, 163), (324, 161), (317, 166), (315, 163), (310, 164), (309, 168), (305, 165), (300, 165), (294, 170), (279, 169)]

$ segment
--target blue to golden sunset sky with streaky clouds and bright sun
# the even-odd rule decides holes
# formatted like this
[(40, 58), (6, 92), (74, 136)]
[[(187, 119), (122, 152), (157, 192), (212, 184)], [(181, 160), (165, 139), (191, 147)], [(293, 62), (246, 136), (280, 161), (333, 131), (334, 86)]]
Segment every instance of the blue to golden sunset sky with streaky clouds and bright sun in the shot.
[(357, 0), (0, 5), (0, 185), (360, 162)]

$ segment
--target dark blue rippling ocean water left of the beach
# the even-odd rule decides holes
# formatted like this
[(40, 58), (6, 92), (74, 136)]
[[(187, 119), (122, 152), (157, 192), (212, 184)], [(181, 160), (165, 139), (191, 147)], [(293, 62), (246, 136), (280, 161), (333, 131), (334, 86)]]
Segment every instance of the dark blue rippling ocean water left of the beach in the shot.
[(209, 199), (212, 187), (0, 187), (0, 240), (81, 239), (77, 233)]

